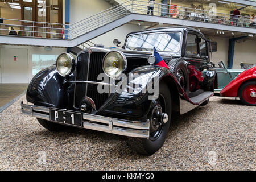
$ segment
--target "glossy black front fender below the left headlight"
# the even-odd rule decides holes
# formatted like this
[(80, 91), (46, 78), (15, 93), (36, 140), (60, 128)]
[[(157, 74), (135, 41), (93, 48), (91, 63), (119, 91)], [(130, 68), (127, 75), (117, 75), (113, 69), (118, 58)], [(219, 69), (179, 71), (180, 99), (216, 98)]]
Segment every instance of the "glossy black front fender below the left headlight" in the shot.
[(64, 78), (54, 66), (43, 69), (32, 78), (27, 89), (27, 101), (35, 105), (63, 108), (68, 106), (69, 93)]

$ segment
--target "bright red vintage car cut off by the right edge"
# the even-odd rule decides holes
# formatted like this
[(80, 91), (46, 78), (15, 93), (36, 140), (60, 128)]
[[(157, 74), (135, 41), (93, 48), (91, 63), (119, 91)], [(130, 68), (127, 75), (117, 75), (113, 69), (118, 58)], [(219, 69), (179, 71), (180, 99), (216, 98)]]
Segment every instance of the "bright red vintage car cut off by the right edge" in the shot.
[(240, 97), (243, 104), (256, 105), (256, 65), (243, 71), (220, 92), (224, 97)]

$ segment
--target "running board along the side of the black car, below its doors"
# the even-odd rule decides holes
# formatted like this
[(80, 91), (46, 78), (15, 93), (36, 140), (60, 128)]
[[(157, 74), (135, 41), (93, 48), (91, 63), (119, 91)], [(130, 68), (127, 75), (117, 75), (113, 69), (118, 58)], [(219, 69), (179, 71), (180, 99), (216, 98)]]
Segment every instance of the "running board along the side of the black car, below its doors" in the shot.
[(212, 97), (213, 95), (214, 92), (205, 91), (198, 96), (189, 98), (191, 102), (180, 98), (180, 114), (185, 114), (188, 111), (195, 109), (197, 106), (208, 100), (208, 98)]

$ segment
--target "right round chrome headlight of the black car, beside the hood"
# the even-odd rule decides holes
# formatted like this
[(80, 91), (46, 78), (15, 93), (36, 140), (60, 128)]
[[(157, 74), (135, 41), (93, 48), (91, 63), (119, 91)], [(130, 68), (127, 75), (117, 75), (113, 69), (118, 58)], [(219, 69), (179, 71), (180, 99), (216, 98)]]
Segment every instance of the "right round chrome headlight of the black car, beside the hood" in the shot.
[(127, 60), (125, 55), (119, 51), (112, 51), (105, 55), (102, 68), (109, 77), (118, 77), (127, 67)]

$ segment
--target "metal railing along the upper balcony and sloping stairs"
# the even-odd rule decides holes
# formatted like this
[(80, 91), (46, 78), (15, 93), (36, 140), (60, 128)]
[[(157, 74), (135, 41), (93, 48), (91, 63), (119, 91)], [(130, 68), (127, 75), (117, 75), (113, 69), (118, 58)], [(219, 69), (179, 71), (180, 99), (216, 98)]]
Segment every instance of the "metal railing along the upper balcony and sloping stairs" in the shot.
[[(47, 22), (33, 22), (28, 20), (3, 19), (0, 23), (0, 35), (32, 36), (51, 39), (74, 39), (77, 36), (93, 31), (114, 20), (122, 18), (131, 13), (148, 14), (148, 3), (140, 0), (119, 0), (122, 3), (109, 9), (101, 11), (95, 15), (82, 19), (72, 24), (59, 24)], [(151, 13), (150, 13), (151, 14)], [(187, 19), (199, 22), (216, 24), (226, 24), (238, 27), (256, 28), (255, 22), (251, 22), (250, 17), (237, 16), (231, 14), (214, 13), (211, 11), (193, 9), (191, 7), (173, 6), (162, 3), (155, 3), (152, 14), (169, 18)], [(13, 27), (15, 32), (10, 33)], [(216, 27), (217, 28), (217, 27)], [(18, 31), (18, 32), (17, 32)], [(84, 47), (86, 47), (84, 45)]]

